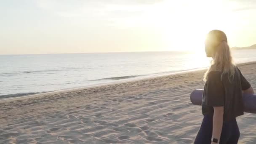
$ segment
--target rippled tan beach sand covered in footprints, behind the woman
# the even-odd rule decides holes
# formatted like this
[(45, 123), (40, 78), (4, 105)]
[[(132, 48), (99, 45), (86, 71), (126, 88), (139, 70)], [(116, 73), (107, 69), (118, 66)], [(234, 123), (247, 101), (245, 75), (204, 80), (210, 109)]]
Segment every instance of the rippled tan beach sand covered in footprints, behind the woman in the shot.
[[(256, 89), (256, 62), (239, 64)], [(203, 116), (190, 93), (205, 70), (0, 101), (0, 144), (189, 144)], [(237, 118), (256, 143), (256, 114)]]

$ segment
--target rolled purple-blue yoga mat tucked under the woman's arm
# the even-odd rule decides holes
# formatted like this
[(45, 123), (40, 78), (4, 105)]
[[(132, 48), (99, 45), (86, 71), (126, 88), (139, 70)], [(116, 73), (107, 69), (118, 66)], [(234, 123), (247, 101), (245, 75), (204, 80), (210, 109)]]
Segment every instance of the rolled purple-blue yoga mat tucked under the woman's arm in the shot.
[[(190, 94), (190, 101), (195, 105), (202, 105), (203, 90), (195, 89)], [(256, 113), (256, 94), (243, 94), (244, 112)]]

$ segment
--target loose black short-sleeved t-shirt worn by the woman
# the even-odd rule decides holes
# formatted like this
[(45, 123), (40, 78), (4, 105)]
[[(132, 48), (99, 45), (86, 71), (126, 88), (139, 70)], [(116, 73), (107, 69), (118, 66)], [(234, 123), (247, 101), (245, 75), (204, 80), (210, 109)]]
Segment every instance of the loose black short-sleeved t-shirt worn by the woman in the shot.
[(224, 106), (224, 121), (243, 115), (242, 90), (251, 87), (240, 70), (235, 67), (234, 79), (229, 82), (227, 74), (212, 71), (205, 82), (202, 100), (203, 115), (213, 115), (213, 107)]

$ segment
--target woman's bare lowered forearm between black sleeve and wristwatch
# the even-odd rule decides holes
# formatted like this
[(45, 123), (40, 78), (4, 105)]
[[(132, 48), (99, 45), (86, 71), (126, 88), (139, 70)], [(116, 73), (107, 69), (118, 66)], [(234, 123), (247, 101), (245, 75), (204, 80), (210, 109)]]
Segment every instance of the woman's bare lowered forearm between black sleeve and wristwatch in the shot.
[[(220, 140), (223, 125), (224, 107), (213, 107), (213, 133), (212, 138)], [(212, 142), (212, 144), (216, 144)]]

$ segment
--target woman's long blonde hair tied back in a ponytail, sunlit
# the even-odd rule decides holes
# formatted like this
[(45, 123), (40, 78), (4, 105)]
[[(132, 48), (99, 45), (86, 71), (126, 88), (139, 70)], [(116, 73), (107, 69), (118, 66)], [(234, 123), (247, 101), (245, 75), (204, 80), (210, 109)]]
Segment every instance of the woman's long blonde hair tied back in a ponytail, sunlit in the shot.
[(204, 81), (208, 80), (208, 74), (212, 71), (221, 72), (221, 79), (224, 74), (228, 75), (231, 82), (235, 75), (235, 64), (232, 59), (231, 51), (227, 43), (227, 36), (220, 30), (212, 30), (208, 33), (208, 39), (211, 41), (213, 49), (213, 60), (208, 70), (205, 72)]

